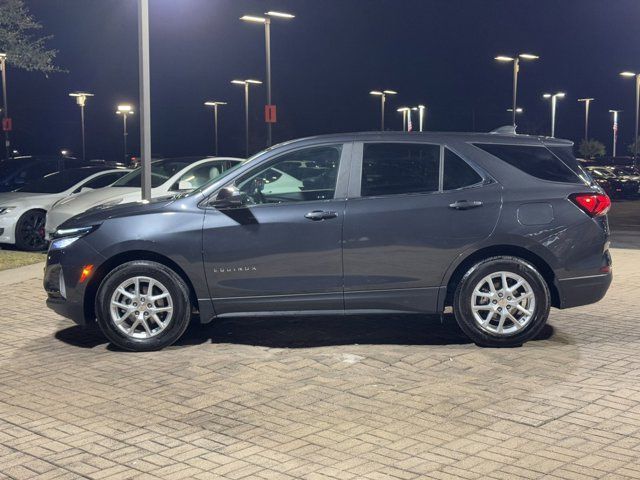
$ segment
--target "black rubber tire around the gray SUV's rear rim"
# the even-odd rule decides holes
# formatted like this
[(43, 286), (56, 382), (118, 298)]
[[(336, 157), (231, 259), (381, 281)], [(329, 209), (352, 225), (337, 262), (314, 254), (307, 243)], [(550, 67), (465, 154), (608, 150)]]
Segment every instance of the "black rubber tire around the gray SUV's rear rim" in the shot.
[[(523, 328), (510, 334), (497, 334), (483, 329), (473, 315), (471, 302), (476, 285), (496, 272), (512, 272), (524, 278), (531, 286), (535, 298), (535, 310), (531, 319)], [(454, 294), (453, 311), (462, 331), (477, 345), (518, 347), (540, 333), (549, 317), (550, 303), (547, 282), (533, 265), (518, 257), (500, 256), (482, 260), (465, 273)], [(510, 320), (507, 322), (514, 326)]]

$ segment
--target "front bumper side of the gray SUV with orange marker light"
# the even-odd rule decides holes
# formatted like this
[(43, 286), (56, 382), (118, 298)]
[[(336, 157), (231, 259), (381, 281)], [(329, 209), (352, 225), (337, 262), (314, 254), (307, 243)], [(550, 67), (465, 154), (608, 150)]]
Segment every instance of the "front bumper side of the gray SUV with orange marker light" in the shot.
[(104, 257), (82, 238), (67, 248), (49, 250), (43, 281), (47, 307), (78, 325), (86, 325), (93, 320), (93, 312), (85, 309), (85, 294), (91, 276), (82, 282), (80, 278), (87, 265), (93, 265), (95, 274), (103, 261)]

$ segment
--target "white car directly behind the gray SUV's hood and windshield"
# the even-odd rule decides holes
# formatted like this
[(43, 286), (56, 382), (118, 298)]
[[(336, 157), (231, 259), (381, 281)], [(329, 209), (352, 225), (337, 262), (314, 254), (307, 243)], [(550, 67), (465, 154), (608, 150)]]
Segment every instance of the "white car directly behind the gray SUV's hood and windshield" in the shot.
[[(200, 158), (165, 158), (152, 162), (151, 196), (155, 198), (193, 190), (243, 161), (231, 157)], [(47, 214), (47, 238), (66, 220), (90, 208), (140, 201), (141, 174), (142, 169), (137, 168), (109, 188), (81, 193), (57, 202)]]

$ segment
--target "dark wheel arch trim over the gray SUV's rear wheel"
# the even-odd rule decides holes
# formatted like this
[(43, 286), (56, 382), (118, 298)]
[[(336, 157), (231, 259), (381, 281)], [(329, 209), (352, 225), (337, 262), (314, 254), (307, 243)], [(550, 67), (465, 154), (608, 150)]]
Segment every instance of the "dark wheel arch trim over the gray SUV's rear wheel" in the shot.
[(475, 252), (466, 256), (462, 261), (460, 261), (453, 273), (449, 276), (449, 280), (447, 281), (446, 295), (444, 298), (444, 306), (450, 306), (453, 304), (453, 295), (455, 293), (456, 287), (464, 274), (476, 263), (485, 258), (496, 257), (496, 256), (511, 256), (518, 257), (522, 260), (525, 260), (531, 263), (542, 275), (547, 286), (549, 287), (549, 293), (551, 294), (551, 305), (553, 307), (558, 307), (560, 305), (560, 293), (558, 291), (558, 287), (556, 285), (556, 276), (553, 273), (553, 269), (549, 265), (549, 263), (542, 258), (540, 255), (532, 252), (531, 250), (527, 250), (526, 248), (519, 247), (516, 245), (492, 245), (489, 247), (481, 248), (480, 250), (476, 250)]

